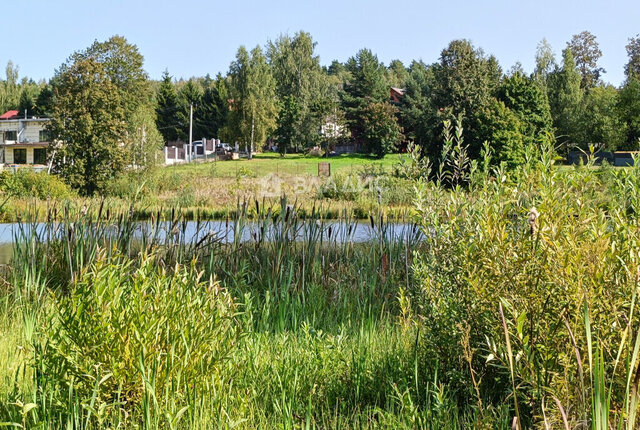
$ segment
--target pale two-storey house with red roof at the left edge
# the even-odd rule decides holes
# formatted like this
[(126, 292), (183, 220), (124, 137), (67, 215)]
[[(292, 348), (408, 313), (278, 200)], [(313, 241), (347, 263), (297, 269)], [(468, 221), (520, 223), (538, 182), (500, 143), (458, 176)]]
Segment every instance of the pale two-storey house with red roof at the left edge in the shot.
[(48, 164), (49, 118), (28, 117), (17, 110), (0, 115), (0, 164), (44, 169)]

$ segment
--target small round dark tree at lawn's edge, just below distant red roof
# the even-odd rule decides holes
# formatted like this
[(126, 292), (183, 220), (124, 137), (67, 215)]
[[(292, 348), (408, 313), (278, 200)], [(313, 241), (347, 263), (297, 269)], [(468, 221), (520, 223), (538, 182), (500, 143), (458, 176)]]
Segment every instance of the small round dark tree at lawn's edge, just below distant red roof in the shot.
[(372, 102), (363, 109), (361, 141), (367, 153), (382, 158), (400, 143), (404, 136), (397, 113), (398, 109), (386, 102)]

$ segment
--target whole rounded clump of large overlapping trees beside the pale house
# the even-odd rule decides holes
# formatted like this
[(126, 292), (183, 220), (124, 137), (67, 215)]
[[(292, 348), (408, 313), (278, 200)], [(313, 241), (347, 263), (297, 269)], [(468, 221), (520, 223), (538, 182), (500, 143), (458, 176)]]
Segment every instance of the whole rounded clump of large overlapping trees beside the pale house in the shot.
[(86, 195), (105, 188), (128, 167), (156, 163), (162, 140), (151, 87), (138, 48), (123, 37), (74, 53), (53, 79), (56, 169)]

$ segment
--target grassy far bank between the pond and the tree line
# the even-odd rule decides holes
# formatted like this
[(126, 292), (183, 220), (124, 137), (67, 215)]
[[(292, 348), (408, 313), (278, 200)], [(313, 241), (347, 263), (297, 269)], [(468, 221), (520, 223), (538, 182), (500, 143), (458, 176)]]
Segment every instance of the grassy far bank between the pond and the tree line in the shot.
[[(7, 186), (0, 181), (8, 198), (0, 208), (0, 221), (18, 221), (34, 206), (41, 217), (51, 207), (93, 211), (105, 206), (111, 211), (133, 207), (139, 218), (146, 219), (158, 213), (168, 217), (175, 211), (187, 219), (227, 219), (235, 216), (239, 201), (258, 199), (277, 210), (282, 195), (296, 202), (301, 216), (320, 210), (324, 217), (338, 218), (347, 210), (366, 219), (380, 206), (390, 217), (402, 218), (408, 212), (413, 184), (394, 176), (397, 155), (382, 160), (357, 154), (331, 157), (330, 178), (318, 177), (318, 162), (323, 161), (327, 159), (257, 154), (253, 160), (158, 167), (124, 175), (113, 181), (103, 196), (94, 198), (75, 195), (55, 178), (45, 181), (25, 174), (14, 180), (8, 175), (11, 181)], [(42, 186), (34, 185), (39, 183)]]

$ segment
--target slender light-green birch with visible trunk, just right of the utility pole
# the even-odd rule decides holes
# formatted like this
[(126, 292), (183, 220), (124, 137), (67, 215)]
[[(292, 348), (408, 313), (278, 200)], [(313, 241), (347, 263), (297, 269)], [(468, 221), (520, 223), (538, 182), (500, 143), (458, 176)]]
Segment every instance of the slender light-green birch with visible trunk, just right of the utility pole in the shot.
[(256, 143), (264, 144), (275, 128), (278, 114), (275, 80), (262, 49), (256, 46), (249, 53), (241, 46), (229, 68), (229, 78), (229, 134), (249, 145), (251, 158)]

